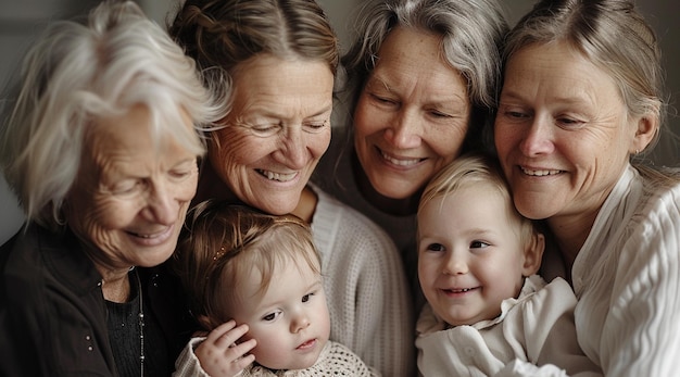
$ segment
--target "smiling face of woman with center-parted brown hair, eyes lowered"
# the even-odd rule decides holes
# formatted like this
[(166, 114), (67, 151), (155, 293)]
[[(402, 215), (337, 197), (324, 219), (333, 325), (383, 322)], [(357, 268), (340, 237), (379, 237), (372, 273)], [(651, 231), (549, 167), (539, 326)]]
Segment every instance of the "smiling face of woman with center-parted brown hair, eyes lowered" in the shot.
[(323, 61), (261, 54), (241, 63), (226, 127), (209, 147), (228, 190), (264, 212), (290, 213), (328, 149), (332, 87)]

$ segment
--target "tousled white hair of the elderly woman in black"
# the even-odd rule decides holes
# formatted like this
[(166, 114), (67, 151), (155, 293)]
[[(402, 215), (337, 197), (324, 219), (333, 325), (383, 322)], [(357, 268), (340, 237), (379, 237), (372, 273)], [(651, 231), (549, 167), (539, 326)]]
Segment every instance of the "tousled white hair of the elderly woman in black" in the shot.
[(224, 116), (193, 60), (133, 1), (104, 1), (81, 22), (52, 23), (21, 66), (4, 104), (0, 166), (28, 221), (45, 226), (59, 225), (98, 120), (141, 104), (154, 140), (172, 137), (202, 155), (200, 130)]

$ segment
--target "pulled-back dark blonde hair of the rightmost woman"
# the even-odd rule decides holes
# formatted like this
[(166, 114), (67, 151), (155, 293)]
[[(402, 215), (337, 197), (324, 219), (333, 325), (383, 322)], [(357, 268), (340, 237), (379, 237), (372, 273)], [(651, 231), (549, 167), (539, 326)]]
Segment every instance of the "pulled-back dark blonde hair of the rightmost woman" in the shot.
[[(543, 0), (508, 34), (504, 62), (530, 45), (565, 41), (614, 79), (628, 115), (664, 124), (664, 71), (654, 29), (629, 0)], [(658, 129), (653, 148), (658, 140)]]

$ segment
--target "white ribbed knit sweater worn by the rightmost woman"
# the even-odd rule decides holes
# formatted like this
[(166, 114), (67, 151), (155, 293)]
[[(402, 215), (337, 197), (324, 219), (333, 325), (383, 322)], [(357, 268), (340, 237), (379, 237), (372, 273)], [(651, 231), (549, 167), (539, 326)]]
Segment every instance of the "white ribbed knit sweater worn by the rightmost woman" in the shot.
[(675, 174), (668, 184), (629, 166), (574, 262), (579, 343), (606, 376), (680, 370), (680, 169)]

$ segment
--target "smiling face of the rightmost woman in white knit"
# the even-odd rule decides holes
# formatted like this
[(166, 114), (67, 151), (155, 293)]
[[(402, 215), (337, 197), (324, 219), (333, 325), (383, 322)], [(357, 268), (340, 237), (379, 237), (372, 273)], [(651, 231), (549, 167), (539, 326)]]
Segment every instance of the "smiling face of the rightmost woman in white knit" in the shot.
[(635, 150), (639, 122), (614, 80), (565, 42), (516, 52), (494, 133), (519, 212), (594, 218)]

